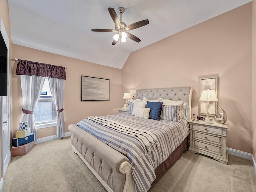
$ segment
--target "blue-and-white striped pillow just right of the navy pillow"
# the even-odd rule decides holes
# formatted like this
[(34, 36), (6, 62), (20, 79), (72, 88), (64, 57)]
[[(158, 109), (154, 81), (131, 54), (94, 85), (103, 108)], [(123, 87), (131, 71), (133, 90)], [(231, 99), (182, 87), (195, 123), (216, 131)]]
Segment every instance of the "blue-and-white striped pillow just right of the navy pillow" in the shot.
[(180, 105), (163, 105), (161, 119), (180, 122)]

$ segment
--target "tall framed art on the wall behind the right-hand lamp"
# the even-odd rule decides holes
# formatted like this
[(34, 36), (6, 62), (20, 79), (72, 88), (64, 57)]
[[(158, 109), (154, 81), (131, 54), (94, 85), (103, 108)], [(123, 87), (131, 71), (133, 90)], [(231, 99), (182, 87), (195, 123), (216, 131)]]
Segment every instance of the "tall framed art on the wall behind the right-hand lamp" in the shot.
[[(202, 90), (215, 90), (216, 97), (218, 98), (218, 74), (208, 75), (208, 76), (199, 76), (199, 90), (200, 95)], [(199, 98), (200, 98), (199, 95)], [(209, 116), (214, 116), (218, 111), (218, 102), (209, 103)], [(199, 101), (199, 114), (206, 115), (206, 102)]]

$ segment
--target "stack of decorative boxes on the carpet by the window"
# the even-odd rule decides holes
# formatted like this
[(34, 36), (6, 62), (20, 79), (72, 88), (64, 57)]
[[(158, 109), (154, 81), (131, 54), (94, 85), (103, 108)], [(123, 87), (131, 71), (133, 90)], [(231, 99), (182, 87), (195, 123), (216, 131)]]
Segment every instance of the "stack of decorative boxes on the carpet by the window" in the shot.
[(12, 138), (12, 157), (26, 155), (34, 148), (35, 134), (31, 133), (28, 127), (28, 121), (20, 122), (19, 131), (15, 132), (15, 138)]

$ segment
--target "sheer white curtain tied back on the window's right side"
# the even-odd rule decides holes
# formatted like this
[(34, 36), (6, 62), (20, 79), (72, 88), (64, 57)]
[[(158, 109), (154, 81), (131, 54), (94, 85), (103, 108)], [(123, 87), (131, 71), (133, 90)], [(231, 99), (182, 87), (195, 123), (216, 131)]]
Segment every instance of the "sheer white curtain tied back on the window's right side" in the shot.
[(64, 100), (64, 79), (48, 78), (50, 89), (52, 93), (52, 98), (57, 109), (56, 117), (56, 135), (58, 137), (64, 137), (65, 135), (65, 122), (64, 122), (64, 112), (63, 112), (63, 100)]

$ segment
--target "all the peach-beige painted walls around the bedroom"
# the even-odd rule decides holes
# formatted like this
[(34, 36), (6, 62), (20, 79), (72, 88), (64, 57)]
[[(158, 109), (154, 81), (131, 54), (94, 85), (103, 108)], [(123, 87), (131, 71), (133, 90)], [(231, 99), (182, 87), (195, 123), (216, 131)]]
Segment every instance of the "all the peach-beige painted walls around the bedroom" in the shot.
[[(0, 18), (4, 22), (10, 40), (9, 46), (12, 48), (7, 0), (0, 1)], [(256, 77), (252, 76), (252, 73), (256, 74), (256, 43), (253, 44), (253, 55), (251, 50), (252, 30), (253, 34), (256, 33), (255, 19), (256, 3), (253, 0), (252, 3), (133, 52), (122, 69), (122, 75), (118, 69), (95, 66), (89, 62), (17, 45), (13, 45), (15, 54), (10, 49), (10, 58), (68, 66), (64, 100), (66, 132), (68, 124), (76, 123), (85, 116), (116, 113), (124, 103), (123, 92), (137, 88), (191, 86), (194, 89), (192, 112), (197, 115), (198, 76), (219, 74), (219, 106), (226, 110), (230, 124), (228, 147), (253, 153), (256, 158), (256, 122), (252, 123), (251, 115), (252, 107), (256, 108), (256, 89), (252, 92), (252, 85), (256, 85)], [(254, 42), (255, 38), (254, 35)], [(12, 65), (10, 104), (11, 118), (13, 117), (15, 125), (13, 129), (12, 121), (10, 123), (15, 132), (21, 118), (22, 100), (18, 86), (20, 80), (15, 74), (16, 63), (12, 62)], [(111, 100), (80, 102), (80, 75), (110, 78)], [(251, 95), (254, 98), (253, 105)], [(253, 117), (256, 118), (255, 110)], [(52, 134), (55, 134), (55, 128), (38, 130), (39, 138)]]

